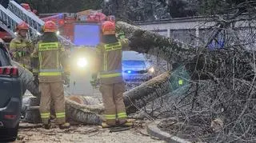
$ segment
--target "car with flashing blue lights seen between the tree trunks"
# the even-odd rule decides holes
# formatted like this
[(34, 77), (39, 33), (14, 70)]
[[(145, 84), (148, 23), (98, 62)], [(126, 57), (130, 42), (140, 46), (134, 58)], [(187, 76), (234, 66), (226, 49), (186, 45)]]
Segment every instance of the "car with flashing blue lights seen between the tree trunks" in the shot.
[(154, 76), (154, 67), (143, 54), (122, 52), (122, 76), (127, 82), (148, 81)]

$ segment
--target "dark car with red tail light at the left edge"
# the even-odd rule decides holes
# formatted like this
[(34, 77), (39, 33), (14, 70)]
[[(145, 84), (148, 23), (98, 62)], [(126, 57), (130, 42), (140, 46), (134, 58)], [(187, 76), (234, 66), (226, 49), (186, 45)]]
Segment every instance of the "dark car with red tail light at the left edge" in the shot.
[(18, 69), (0, 39), (0, 141), (15, 141), (22, 107), (22, 85)]

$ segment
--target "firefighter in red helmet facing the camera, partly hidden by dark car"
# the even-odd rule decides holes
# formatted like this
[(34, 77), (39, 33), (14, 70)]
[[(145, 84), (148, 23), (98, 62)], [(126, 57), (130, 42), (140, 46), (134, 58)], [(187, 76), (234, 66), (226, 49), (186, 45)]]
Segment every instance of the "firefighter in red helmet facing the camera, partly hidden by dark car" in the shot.
[(17, 37), (10, 42), (10, 55), (15, 62), (20, 63), (27, 70), (31, 70), (30, 54), (34, 50), (32, 42), (26, 38), (29, 26), (26, 22), (18, 24)]

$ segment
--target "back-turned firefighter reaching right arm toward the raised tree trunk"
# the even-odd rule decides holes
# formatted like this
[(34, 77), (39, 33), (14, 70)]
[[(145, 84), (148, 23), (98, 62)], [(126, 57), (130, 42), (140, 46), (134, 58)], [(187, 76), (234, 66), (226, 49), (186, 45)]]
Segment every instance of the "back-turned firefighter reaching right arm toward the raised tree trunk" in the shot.
[(92, 85), (97, 81), (97, 73), (100, 77), (100, 91), (105, 106), (105, 116), (102, 120), (102, 127), (132, 125), (127, 120), (126, 109), (122, 94), (125, 92), (125, 85), (122, 79), (122, 50), (128, 47), (126, 38), (119, 40), (115, 35), (114, 22), (102, 23), (102, 42), (97, 46), (96, 54), (98, 59), (97, 72), (93, 73)]

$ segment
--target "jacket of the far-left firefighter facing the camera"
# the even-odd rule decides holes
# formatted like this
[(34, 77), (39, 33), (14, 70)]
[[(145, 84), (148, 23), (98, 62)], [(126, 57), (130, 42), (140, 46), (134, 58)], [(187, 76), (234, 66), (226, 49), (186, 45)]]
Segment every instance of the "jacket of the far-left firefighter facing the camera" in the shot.
[(10, 54), (15, 62), (30, 69), (30, 54), (33, 52), (34, 46), (27, 38), (18, 35), (10, 42)]

